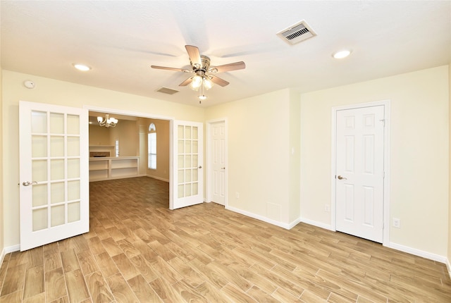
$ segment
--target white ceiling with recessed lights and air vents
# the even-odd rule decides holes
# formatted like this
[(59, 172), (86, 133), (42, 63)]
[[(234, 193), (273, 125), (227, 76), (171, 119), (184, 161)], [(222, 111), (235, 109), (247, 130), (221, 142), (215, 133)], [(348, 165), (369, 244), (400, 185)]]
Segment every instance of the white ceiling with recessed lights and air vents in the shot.
[[(190, 74), (150, 66), (189, 68), (186, 44), (212, 66), (246, 63), (218, 74), (230, 85), (210, 89), (201, 106), (451, 62), (451, 1), (1, 0), (0, 9), (5, 70), (182, 104), (198, 104), (197, 92), (178, 86)], [(317, 36), (295, 45), (276, 36), (300, 20)], [(351, 56), (332, 58), (342, 48)], [(92, 70), (75, 70), (74, 62)], [(180, 92), (156, 92), (161, 87)]]

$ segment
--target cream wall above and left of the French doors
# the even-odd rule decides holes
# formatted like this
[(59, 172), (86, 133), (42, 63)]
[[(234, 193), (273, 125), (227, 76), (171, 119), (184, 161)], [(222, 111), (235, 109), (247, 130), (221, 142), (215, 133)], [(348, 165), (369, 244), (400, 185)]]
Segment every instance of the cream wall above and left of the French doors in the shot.
[[(24, 80), (33, 80), (35, 89), (23, 86)], [(4, 247), (19, 244), (19, 159), (18, 159), (18, 103), (19, 100), (58, 104), (82, 108), (93, 106), (102, 109), (142, 113), (142, 116), (173, 117), (180, 120), (203, 122), (204, 109), (175, 102), (161, 101), (107, 89), (75, 85), (3, 70), (3, 199)], [(7, 131), (6, 131), (7, 130)], [(7, 177), (7, 178), (6, 178)]]

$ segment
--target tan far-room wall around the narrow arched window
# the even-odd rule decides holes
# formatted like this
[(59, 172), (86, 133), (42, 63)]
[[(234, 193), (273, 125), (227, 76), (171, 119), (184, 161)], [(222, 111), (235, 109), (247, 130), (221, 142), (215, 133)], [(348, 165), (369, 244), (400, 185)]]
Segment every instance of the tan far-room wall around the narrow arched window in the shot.
[[(169, 120), (146, 119), (148, 132), (150, 123), (155, 124), (156, 129), (156, 169), (147, 169), (147, 175), (159, 180), (169, 181), (169, 159), (171, 152), (171, 124)], [(147, 154), (146, 132), (146, 154)], [(147, 157), (146, 157), (147, 167)]]

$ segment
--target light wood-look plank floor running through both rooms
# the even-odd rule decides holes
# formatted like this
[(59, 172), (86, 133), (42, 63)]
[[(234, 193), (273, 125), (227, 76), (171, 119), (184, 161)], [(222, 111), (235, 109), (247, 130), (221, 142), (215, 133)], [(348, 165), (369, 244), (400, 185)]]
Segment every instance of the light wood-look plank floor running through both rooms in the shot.
[(168, 183), (90, 184), (85, 235), (5, 256), (0, 302), (451, 302), (444, 264), (218, 204), (168, 209)]

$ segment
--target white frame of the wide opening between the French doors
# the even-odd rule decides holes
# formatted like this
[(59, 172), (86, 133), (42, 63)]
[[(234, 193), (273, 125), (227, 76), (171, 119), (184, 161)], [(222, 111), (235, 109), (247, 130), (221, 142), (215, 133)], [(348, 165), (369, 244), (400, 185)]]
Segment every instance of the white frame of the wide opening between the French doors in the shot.
[[(173, 205), (173, 123), (175, 117), (172, 116), (161, 116), (154, 115), (151, 113), (142, 113), (140, 111), (126, 111), (125, 109), (109, 109), (106, 107), (97, 107), (97, 106), (89, 106), (84, 105), (83, 109), (87, 109), (88, 111), (98, 111), (99, 113), (112, 113), (117, 115), (124, 116), (134, 116), (140, 118), (149, 118), (149, 119), (160, 119), (160, 120), (169, 120), (169, 206)], [(88, 130), (89, 131), (89, 130)], [(86, 151), (89, 152), (89, 151)]]

